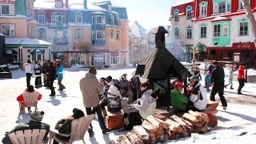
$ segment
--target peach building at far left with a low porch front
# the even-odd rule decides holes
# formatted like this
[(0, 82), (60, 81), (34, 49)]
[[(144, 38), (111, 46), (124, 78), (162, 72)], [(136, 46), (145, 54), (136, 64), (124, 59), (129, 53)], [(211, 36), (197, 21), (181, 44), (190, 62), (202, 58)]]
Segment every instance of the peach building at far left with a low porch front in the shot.
[(0, 1), (0, 33), (5, 39), (1, 50), (7, 57), (5, 63), (21, 65), (28, 59), (51, 59), (51, 43), (36, 39), (33, 6), (34, 0)]

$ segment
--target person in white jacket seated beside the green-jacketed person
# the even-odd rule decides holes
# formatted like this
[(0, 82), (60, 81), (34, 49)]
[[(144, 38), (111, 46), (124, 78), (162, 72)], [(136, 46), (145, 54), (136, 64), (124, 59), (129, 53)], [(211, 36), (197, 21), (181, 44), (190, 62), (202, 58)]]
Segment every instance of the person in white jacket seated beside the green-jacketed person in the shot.
[(207, 105), (207, 94), (206, 88), (201, 86), (198, 76), (192, 76), (190, 78), (190, 95), (189, 99), (192, 102), (190, 110), (202, 111), (206, 110)]

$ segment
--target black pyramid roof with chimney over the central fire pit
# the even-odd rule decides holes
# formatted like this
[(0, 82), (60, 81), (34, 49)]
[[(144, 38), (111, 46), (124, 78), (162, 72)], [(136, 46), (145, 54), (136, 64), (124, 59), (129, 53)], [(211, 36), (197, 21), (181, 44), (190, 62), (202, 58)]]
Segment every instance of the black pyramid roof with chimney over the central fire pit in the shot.
[(187, 78), (192, 75), (178, 59), (166, 49), (164, 39), (167, 33), (163, 26), (158, 26), (156, 34), (156, 47), (142, 62), (145, 65), (145, 79)]

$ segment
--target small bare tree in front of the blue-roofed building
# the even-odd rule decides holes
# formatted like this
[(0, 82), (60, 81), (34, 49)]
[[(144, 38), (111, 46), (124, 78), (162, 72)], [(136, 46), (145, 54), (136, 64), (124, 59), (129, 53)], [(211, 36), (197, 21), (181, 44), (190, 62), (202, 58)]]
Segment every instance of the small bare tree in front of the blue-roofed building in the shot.
[(78, 64), (80, 64), (81, 55), (87, 54), (90, 49), (91, 49), (90, 42), (84, 42), (84, 41), (74, 42), (74, 54), (72, 55), (74, 57), (75, 62), (78, 61)]

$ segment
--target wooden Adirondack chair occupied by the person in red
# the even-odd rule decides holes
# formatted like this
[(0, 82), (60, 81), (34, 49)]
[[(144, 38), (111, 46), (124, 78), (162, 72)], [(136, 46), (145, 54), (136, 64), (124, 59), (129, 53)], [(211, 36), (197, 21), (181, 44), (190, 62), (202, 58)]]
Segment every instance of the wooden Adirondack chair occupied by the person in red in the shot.
[(38, 93), (33, 92), (33, 93), (26, 93), (26, 94), (22, 94), (22, 97), (24, 99), (23, 102), (25, 102), (25, 106), (22, 108), (22, 104), (21, 102), (19, 103), (19, 108), (20, 108), (20, 112), (23, 110), (23, 114), (25, 114), (25, 108), (26, 107), (31, 107), (34, 106), (34, 110), (38, 110)]

